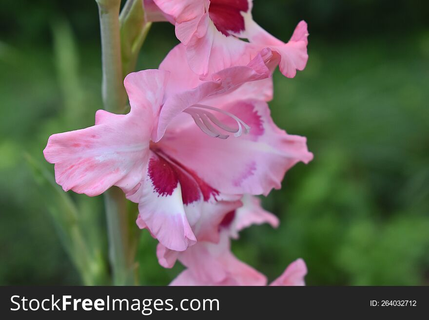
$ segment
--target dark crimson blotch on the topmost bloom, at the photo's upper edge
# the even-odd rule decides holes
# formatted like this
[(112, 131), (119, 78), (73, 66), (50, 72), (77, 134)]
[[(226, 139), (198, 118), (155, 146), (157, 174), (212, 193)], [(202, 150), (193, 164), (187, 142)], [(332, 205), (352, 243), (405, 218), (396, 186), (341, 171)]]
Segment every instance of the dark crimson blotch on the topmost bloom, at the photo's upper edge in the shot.
[(248, 10), (248, 0), (211, 0), (209, 16), (216, 29), (228, 37), (230, 31), (233, 33), (244, 31), (244, 18), (240, 12)]

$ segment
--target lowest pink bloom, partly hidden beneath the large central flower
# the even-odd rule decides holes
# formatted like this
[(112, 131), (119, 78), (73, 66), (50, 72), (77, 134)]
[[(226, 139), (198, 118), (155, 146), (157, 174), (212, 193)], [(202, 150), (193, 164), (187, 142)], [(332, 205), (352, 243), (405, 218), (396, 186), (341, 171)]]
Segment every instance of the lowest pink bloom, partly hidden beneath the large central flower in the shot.
[[(238, 260), (231, 252), (230, 236), (251, 224), (270, 223), (278, 226), (278, 219), (259, 206), (249, 195), (244, 206), (225, 216), (220, 224), (220, 241), (198, 242), (184, 252), (167, 250), (158, 245), (157, 256), (163, 266), (172, 267), (178, 259), (187, 267), (170, 285), (266, 285), (267, 278), (251, 266)], [(305, 285), (307, 267), (302, 259), (290, 264), (271, 285)]]

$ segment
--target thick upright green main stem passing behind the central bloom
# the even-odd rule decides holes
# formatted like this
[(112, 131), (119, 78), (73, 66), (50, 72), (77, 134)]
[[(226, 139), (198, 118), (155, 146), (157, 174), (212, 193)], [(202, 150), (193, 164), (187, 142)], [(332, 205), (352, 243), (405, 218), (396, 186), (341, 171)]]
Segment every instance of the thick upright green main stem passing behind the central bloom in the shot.
[[(126, 101), (119, 36), (120, 0), (96, 0), (100, 18), (104, 109), (120, 112)], [(113, 284), (133, 285), (134, 252), (130, 245), (126, 199), (118, 188), (104, 194)]]

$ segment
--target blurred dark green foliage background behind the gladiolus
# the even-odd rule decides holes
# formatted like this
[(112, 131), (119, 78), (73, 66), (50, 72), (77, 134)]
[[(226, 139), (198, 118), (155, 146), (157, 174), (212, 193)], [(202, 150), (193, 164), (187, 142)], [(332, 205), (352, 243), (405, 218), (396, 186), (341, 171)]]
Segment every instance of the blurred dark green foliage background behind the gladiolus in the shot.
[[(264, 199), (280, 227), (253, 226), (233, 243), (270, 280), (302, 257), (309, 285), (429, 284), (428, 14), (428, 1), (254, 0), (255, 20), (278, 38), (300, 19), (310, 31), (307, 68), (294, 79), (276, 72), (270, 106), (277, 125), (308, 137), (314, 160)], [(155, 24), (137, 69), (156, 68), (176, 43), (172, 25)], [(62, 210), (98, 226), (85, 236), (107, 259), (102, 198), (64, 200), (38, 172), (53, 173), (42, 157), (50, 134), (93, 124), (100, 64), (95, 1), (3, 1), (2, 285), (81, 283), (53, 223)], [(155, 247), (141, 232), (142, 284), (181, 269), (159, 266)]]

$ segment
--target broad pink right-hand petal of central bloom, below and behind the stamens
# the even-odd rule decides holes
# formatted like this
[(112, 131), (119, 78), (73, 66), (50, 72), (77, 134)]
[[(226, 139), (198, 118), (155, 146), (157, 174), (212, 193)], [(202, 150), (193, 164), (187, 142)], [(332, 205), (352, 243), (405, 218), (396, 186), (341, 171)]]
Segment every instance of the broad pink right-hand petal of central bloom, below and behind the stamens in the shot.
[(312, 160), (306, 138), (289, 135), (275, 126), (265, 102), (236, 101), (221, 108), (248, 123), (250, 133), (222, 140), (194, 125), (160, 141), (165, 153), (192, 168), (221, 193), (268, 194), (272, 188), (280, 188), (285, 172), (293, 165)]

